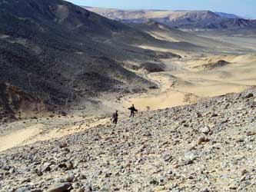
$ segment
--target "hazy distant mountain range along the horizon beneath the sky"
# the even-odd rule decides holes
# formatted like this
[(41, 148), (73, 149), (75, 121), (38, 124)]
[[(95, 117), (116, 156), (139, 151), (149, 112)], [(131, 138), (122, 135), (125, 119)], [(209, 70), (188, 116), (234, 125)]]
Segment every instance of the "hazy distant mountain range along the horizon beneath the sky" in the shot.
[(164, 25), (178, 28), (256, 28), (255, 20), (210, 11), (153, 11), (113, 8), (88, 8), (88, 10), (127, 23), (142, 23), (152, 19)]

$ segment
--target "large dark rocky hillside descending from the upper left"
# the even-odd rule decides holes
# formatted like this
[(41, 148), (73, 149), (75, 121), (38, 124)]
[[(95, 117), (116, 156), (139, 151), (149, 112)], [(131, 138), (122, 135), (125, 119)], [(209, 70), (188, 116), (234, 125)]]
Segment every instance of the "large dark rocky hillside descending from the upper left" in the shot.
[(0, 0), (0, 82), (51, 106), (150, 87), (122, 67), (158, 60), (161, 53), (131, 46), (141, 42), (158, 40), (68, 2)]

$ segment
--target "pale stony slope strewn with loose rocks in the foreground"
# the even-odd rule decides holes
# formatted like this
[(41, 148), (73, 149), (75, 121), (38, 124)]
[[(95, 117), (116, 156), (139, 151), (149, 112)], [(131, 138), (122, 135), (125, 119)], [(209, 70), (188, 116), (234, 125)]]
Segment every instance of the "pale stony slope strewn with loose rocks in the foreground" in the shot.
[(4, 151), (1, 191), (255, 191), (255, 95), (145, 111)]

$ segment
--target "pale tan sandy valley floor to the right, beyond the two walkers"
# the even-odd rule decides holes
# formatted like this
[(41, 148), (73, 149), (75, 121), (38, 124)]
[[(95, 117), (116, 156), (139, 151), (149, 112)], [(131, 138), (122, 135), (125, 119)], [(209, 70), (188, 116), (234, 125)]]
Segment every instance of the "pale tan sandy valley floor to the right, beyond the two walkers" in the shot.
[[(200, 66), (220, 60), (230, 64), (212, 70)], [(191, 61), (165, 60), (175, 70), (149, 74), (160, 89), (125, 98), (125, 105), (135, 104), (141, 110), (171, 108), (191, 104), (201, 98), (244, 91), (256, 85), (256, 55), (215, 55)]]

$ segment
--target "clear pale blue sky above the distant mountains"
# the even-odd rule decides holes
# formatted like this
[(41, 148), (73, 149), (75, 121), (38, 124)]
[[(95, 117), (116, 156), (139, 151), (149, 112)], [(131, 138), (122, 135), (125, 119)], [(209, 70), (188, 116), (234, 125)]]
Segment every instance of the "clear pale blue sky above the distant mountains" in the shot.
[(102, 8), (210, 10), (256, 18), (256, 0), (66, 0), (76, 5)]

